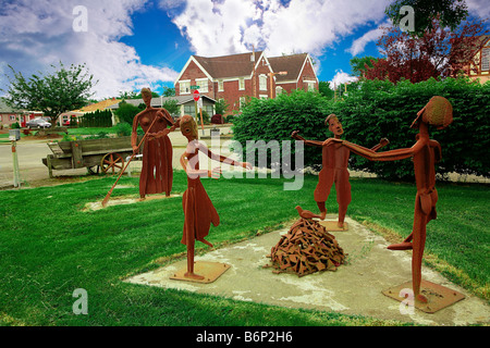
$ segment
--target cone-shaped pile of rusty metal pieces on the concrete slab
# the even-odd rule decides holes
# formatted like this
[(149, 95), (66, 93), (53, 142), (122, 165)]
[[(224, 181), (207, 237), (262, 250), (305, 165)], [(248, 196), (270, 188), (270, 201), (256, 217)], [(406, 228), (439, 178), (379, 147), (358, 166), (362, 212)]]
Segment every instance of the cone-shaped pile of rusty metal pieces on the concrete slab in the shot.
[(322, 225), (302, 217), (272, 247), (268, 257), (271, 258), (273, 273), (289, 272), (304, 276), (324, 270), (335, 271), (345, 254), (335, 237)]

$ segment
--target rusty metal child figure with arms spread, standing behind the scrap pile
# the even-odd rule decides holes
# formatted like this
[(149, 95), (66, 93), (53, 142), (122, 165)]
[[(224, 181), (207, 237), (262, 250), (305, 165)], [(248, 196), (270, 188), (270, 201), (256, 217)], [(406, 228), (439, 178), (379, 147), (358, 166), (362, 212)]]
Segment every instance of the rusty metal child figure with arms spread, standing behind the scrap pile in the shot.
[[(344, 129), (335, 114), (327, 116), (324, 125), (333, 133), (334, 139), (341, 140)], [(322, 169), (318, 175), (318, 184), (315, 188), (315, 201), (320, 210), (320, 214), (316, 214), (315, 217), (320, 220), (326, 217), (326, 201), (329, 198), (333, 183), (335, 183), (336, 201), (339, 203), (338, 227), (343, 228), (347, 207), (352, 200), (351, 184), (348, 182), (350, 174), (347, 171), (348, 158), (351, 156), (350, 149), (343, 147), (342, 144), (339, 142), (306, 140), (298, 135), (298, 130), (294, 130), (291, 136), (296, 140), (304, 141), (307, 146), (322, 148)], [(388, 139), (383, 138), (380, 144), (371, 148), (371, 150), (377, 151), (388, 144)]]

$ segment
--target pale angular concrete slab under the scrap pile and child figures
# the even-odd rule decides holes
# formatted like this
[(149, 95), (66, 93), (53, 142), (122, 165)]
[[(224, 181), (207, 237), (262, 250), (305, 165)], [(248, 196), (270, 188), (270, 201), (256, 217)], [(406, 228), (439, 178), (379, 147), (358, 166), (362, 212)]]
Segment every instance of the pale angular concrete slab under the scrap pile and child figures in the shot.
[[(335, 216), (327, 216), (334, 220)], [(290, 308), (360, 314), (381, 320), (396, 320), (421, 325), (489, 324), (490, 309), (481, 299), (452, 284), (439, 273), (424, 268), (422, 279), (460, 291), (465, 299), (436, 313), (414, 309), (402, 313), (401, 302), (381, 291), (412, 279), (412, 257), (406, 251), (387, 249), (384, 238), (371, 233), (352, 219), (350, 229), (333, 232), (340, 246), (348, 254), (348, 263), (338, 271), (314, 273), (303, 277), (295, 274), (274, 274), (262, 266), (270, 263), (267, 254), (281, 234), (277, 231), (222, 249), (196, 257), (196, 261), (230, 264), (217, 281), (210, 284), (175, 281), (170, 277), (186, 266), (186, 260), (168, 264), (156, 271), (126, 279), (128, 283), (159, 286), (199, 294), (219, 295), (235, 300), (254, 301)], [(209, 236), (212, 243), (212, 235)]]

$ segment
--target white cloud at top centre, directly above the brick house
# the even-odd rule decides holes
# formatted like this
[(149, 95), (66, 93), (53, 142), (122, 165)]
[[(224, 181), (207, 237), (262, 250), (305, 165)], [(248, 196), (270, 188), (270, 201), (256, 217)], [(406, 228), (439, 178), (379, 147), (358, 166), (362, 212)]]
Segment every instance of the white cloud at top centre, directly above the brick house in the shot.
[(269, 55), (321, 55), (358, 26), (382, 21), (388, 3), (291, 0), (283, 5), (279, 0), (188, 0), (172, 21), (198, 55), (244, 52), (252, 45)]

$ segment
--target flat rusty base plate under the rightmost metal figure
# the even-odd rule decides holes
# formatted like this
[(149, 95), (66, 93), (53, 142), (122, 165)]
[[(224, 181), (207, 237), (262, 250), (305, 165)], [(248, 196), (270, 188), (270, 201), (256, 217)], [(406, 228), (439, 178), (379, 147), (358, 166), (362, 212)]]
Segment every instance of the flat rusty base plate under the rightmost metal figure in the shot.
[[(403, 289), (405, 290), (402, 291)], [(406, 282), (399, 286), (383, 290), (382, 294), (400, 302), (403, 302), (406, 300), (403, 294), (406, 294), (407, 290), (413, 291), (412, 289), (412, 282)], [(427, 281), (421, 281), (420, 294), (427, 298), (427, 303), (422, 303), (417, 300), (411, 302), (414, 303), (415, 308), (426, 313), (436, 313), (437, 311), (465, 298), (463, 294), (456, 290)]]

